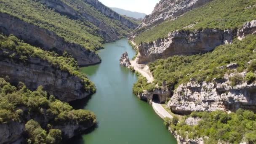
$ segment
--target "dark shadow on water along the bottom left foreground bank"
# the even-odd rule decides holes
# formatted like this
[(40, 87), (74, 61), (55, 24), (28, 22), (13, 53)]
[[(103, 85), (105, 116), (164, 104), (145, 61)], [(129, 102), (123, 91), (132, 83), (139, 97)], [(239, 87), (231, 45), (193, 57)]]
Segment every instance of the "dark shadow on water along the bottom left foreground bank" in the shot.
[(86, 144), (83, 139), (83, 135), (95, 131), (96, 128), (99, 128), (99, 122), (93, 127), (83, 131), (80, 135), (74, 136), (71, 139), (63, 141), (63, 144)]

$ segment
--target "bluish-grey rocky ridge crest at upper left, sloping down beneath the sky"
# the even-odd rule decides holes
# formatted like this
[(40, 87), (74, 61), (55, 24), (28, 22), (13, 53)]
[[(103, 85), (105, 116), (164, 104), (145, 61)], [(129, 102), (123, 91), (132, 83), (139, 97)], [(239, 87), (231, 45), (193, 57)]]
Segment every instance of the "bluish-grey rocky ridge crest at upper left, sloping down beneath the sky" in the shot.
[(133, 24), (128, 19), (125, 19), (123, 16), (113, 11), (111, 8), (108, 8), (107, 6), (103, 5), (99, 0), (84, 0), (84, 1), (85, 3), (92, 5), (94, 8), (96, 8), (98, 11), (100, 11), (107, 17), (120, 21), (122, 24), (124, 24), (125, 26), (131, 29), (135, 29), (136, 27), (138, 27), (138, 25)]

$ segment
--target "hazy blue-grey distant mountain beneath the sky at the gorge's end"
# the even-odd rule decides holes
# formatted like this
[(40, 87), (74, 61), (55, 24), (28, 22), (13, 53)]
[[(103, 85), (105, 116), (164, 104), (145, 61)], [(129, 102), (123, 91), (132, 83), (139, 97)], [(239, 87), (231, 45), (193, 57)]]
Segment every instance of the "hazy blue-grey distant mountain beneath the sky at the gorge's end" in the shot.
[(144, 17), (147, 15), (146, 13), (127, 11), (121, 8), (111, 8), (111, 9), (121, 15), (129, 16), (135, 19), (144, 19)]

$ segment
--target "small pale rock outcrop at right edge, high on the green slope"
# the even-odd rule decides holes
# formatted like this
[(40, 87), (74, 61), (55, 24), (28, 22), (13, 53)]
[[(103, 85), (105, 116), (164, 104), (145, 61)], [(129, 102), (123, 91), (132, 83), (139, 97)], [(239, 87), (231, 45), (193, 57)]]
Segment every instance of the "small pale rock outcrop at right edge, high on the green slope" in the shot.
[(243, 27), (237, 31), (237, 36), (240, 40), (248, 34), (256, 34), (256, 20), (246, 22)]

